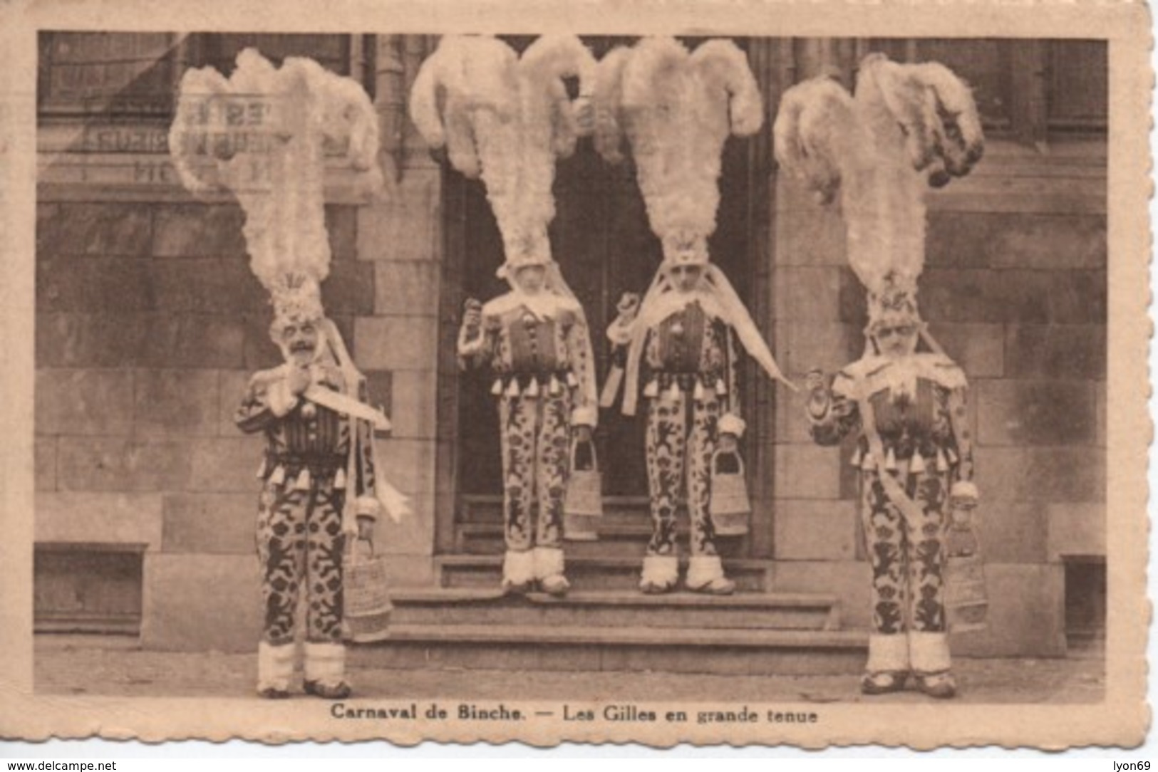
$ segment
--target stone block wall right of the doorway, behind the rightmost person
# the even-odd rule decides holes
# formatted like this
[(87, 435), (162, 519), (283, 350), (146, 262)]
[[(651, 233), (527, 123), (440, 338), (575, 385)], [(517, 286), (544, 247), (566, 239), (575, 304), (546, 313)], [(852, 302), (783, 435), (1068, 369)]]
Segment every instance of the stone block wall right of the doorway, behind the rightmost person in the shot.
[[(1003, 194), (1013, 175), (1043, 194)], [(972, 387), (991, 602), (989, 631), (960, 637), (962, 654), (1062, 654), (1062, 561), (1105, 556), (1105, 178), (1078, 170), (1082, 196), (1060, 206), (1045, 196), (1058, 176), (1064, 162), (998, 145), (930, 198), (921, 308)], [(794, 377), (831, 373), (862, 354), (866, 321), (843, 226), (783, 179), (774, 223), (777, 358)], [(777, 584), (836, 591), (845, 622), (868, 626), (851, 446), (814, 447), (804, 400), (783, 387), (776, 416)]]

